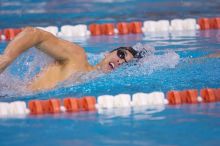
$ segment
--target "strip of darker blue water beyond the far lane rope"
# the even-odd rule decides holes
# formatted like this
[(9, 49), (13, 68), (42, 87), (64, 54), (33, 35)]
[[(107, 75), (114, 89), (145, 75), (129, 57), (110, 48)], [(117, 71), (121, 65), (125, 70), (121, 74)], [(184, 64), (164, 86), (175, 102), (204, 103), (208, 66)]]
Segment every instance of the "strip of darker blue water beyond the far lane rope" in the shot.
[(0, 28), (219, 16), (217, 0), (1, 0)]

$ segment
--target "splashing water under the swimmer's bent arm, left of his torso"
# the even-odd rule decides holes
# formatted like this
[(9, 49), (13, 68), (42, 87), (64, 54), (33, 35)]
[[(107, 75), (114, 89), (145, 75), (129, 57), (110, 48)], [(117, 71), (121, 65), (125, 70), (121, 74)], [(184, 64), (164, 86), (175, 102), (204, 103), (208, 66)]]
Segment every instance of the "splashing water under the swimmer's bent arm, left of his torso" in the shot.
[(34, 48), (23, 53), (0, 74), (0, 97), (32, 94), (26, 89), (26, 85), (41, 68), (53, 61), (51, 57)]

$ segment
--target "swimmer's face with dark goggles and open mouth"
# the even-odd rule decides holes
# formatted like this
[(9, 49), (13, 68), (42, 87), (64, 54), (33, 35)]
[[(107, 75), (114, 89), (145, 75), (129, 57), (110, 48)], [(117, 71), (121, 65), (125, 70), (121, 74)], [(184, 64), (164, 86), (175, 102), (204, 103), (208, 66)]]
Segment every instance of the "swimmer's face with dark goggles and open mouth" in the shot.
[(134, 56), (126, 49), (119, 49), (105, 54), (105, 58), (100, 63), (103, 72), (110, 72), (118, 68), (123, 63), (132, 60)]

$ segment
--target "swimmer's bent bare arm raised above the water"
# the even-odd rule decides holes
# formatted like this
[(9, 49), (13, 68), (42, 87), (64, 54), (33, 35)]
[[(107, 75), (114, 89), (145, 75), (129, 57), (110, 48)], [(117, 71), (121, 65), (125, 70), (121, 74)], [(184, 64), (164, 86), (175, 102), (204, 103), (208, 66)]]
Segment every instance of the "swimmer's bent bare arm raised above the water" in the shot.
[(0, 73), (21, 53), (34, 46), (61, 63), (71, 60), (76, 54), (84, 52), (80, 46), (61, 40), (49, 32), (26, 27), (8, 44), (4, 54), (0, 55)]

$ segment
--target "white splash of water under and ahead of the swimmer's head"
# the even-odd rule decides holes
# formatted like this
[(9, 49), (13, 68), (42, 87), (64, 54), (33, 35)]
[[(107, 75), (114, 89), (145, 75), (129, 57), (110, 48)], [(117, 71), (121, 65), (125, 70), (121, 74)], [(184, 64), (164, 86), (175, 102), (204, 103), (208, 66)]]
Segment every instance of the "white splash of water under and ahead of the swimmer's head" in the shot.
[(134, 49), (142, 53), (144, 52), (143, 58), (124, 65), (117, 70), (116, 74), (119, 73), (122, 76), (149, 75), (154, 71), (165, 68), (175, 68), (180, 61), (180, 56), (173, 50), (168, 49), (161, 54), (155, 48), (141, 43), (136, 44)]

